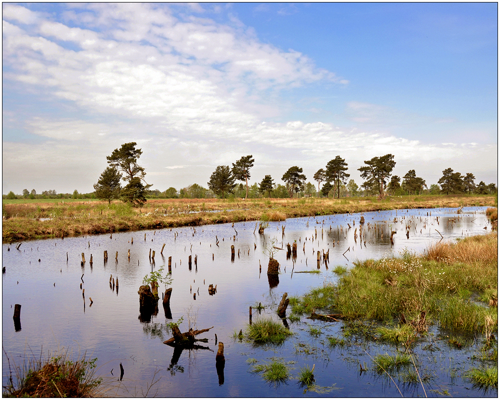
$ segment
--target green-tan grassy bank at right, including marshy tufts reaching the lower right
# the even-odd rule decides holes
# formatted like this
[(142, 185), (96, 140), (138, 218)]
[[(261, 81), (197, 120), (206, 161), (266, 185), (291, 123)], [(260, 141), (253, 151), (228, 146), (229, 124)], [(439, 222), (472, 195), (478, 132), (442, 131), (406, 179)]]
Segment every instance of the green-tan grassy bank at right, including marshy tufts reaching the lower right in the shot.
[[(455, 349), (473, 345), (463, 378), (479, 387), (497, 387), (497, 231), (439, 242), (420, 256), (403, 251), (397, 257), (356, 262), (335, 284), (313, 288), (290, 299), (290, 305), (290, 320), (308, 315), (342, 320), (344, 338), (327, 337), (332, 347), (350, 345), (353, 337), (395, 346), (396, 355), (375, 356), (376, 368), (384, 373), (410, 365), (409, 354), (426, 358), (422, 349), (438, 346), (438, 340)], [(420, 344), (428, 343), (429, 336), (431, 345)], [(415, 348), (420, 349), (411, 350)]]

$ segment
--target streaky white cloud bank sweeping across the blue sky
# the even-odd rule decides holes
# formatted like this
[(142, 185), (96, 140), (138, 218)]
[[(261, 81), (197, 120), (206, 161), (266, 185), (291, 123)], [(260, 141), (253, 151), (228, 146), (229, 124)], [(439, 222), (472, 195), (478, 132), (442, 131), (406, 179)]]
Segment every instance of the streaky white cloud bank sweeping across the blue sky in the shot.
[[(83, 185), (78, 190), (90, 191), (105, 156), (127, 141), (142, 147), (141, 161), (160, 179), (155, 187), (161, 189), (205, 185), (216, 165), (230, 165), (244, 154), (254, 154), (256, 170), (265, 172), (267, 166), (272, 171), (265, 173), (277, 180), (291, 164), (304, 165), (312, 176), (337, 154), (346, 158), (352, 175), (364, 159), (388, 152), (402, 165), (414, 162), (428, 170), (469, 157), (464, 165), (476, 170), (472, 162), (484, 162), (496, 148), (428, 144), (364, 126), (273, 122), (267, 117), (277, 113), (279, 88), (347, 80), (316, 68), (299, 52), (261, 43), (238, 21), (229, 26), (174, 16), (164, 5), (142, 3), (71, 5), (59, 21), (9, 7), (3, 7), (4, 79), (59, 104), (59, 115), (67, 107), (84, 116), (27, 118), (25, 130), (45, 141), (4, 141), (4, 160), (19, 168), (15, 172), (4, 161), (4, 184), (14, 184), (16, 173), (50, 182), (45, 176), (50, 173), (61, 184), (77, 178)], [(397, 109), (356, 101), (346, 104), (345, 115), (355, 126), (383, 127), (408, 118)], [(481, 158), (471, 156), (471, 149)]]

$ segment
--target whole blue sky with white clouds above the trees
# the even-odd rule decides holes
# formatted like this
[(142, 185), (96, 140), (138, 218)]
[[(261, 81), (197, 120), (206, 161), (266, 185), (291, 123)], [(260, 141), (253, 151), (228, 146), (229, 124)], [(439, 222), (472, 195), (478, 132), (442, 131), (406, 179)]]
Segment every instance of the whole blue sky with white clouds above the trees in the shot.
[(2, 193), (93, 191), (121, 144), (151, 189), (387, 153), (498, 179), (497, 3), (2, 3)]

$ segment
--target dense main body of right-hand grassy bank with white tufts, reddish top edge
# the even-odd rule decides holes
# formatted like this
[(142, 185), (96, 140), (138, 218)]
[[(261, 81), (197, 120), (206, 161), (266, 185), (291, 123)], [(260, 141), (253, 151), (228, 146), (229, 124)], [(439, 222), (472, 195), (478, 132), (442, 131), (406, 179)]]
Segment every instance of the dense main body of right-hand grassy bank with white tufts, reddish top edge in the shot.
[[(494, 231), (436, 243), (422, 256), (405, 251), (357, 262), (336, 285), (312, 289), (290, 302), (292, 313), (329, 310), (347, 320), (385, 322), (400, 341), (416, 337), (429, 323), (489, 337), (498, 327), (497, 254)], [(391, 337), (386, 329), (379, 329), (378, 336)]]

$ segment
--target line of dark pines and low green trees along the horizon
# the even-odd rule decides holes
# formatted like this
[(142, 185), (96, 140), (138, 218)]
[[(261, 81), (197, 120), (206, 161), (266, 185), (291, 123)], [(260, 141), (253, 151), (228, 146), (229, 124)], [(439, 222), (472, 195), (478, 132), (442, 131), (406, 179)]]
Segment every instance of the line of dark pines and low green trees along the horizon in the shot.
[[(424, 179), (416, 176), (414, 169), (410, 169), (404, 176), (392, 175), (392, 170), (396, 164), (394, 155), (385, 154), (375, 156), (365, 160), (357, 170), (363, 183), (359, 187), (353, 179), (347, 181), (350, 174), (346, 172), (348, 166), (344, 158), (339, 155), (328, 161), (324, 168), (318, 169), (313, 180), (317, 182), (315, 186), (306, 182), (303, 169), (297, 165), (291, 166), (281, 176), (283, 184), (275, 182), (271, 175), (265, 175), (257, 184), (248, 185), (250, 169), (255, 160), (252, 155), (242, 156), (240, 159), (229, 165), (218, 165), (210, 175), (207, 182), (208, 188), (194, 183), (177, 191), (174, 187), (169, 187), (165, 191), (157, 189), (150, 190), (151, 184), (145, 181), (145, 171), (137, 163), (137, 159), (142, 154), (140, 148), (135, 148), (137, 143), (124, 143), (118, 149), (114, 149), (111, 155), (106, 157), (108, 167), (100, 174), (97, 183), (93, 185), (93, 193), (80, 194), (74, 190), (72, 194), (57, 194), (55, 190), (48, 190), (37, 195), (35, 190), (28, 192), (24, 189), (22, 195), (16, 195), (10, 191), (3, 198), (100, 198), (111, 202), (114, 199), (121, 199), (134, 206), (142, 205), (146, 197), (157, 198), (210, 198), (210, 197), (293, 197), (293, 196), (317, 196), (337, 197), (342, 196), (372, 196), (383, 197), (387, 194), (454, 194), (454, 193), (476, 193), (492, 194), (498, 188), (496, 184), (485, 184), (482, 180), (475, 184), (475, 176), (472, 173), (462, 175), (454, 172), (451, 168), (442, 171), (442, 177), (437, 184), (427, 187)], [(126, 182), (122, 187), (121, 180)], [(240, 181), (241, 183), (237, 183)], [(244, 182), (244, 184), (243, 184)], [(321, 186), (321, 183), (322, 186)]]

